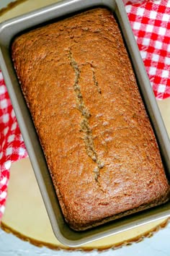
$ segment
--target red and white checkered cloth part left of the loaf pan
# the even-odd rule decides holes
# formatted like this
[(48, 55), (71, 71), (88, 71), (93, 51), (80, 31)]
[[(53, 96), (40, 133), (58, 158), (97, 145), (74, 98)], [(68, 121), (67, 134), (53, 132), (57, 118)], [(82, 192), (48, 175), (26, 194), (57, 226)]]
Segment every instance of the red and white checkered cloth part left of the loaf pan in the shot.
[(0, 72), (0, 219), (4, 213), (11, 163), (27, 156), (27, 150)]

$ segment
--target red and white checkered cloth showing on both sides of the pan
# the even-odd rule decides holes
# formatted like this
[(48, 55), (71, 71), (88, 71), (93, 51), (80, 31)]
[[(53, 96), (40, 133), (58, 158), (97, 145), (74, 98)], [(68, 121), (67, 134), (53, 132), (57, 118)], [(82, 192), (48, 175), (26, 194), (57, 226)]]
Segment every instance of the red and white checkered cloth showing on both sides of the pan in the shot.
[[(170, 0), (128, 2), (126, 10), (153, 92), (158, 99), (167, 98), (170, 96)], [(26, 156), (27, 150), (0, 72), (0, 220), (11, 163)]]

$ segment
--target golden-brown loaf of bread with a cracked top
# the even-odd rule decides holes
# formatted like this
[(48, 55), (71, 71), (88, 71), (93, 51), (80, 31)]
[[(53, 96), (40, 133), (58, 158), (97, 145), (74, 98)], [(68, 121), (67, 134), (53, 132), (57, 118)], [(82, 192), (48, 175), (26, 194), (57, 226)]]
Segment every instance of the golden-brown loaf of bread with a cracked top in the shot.
[(169, 200), (156, 137), (109, 10), (19, 35), (12, 59), (71, 228)]

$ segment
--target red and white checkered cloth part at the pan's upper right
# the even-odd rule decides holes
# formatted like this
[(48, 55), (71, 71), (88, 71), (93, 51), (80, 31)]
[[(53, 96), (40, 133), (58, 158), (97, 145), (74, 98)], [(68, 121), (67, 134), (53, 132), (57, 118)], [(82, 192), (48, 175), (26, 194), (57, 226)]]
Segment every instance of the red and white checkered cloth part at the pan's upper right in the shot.
[(127, 4), (140, 54), (158, 99), (170, 96), (170, 1)]

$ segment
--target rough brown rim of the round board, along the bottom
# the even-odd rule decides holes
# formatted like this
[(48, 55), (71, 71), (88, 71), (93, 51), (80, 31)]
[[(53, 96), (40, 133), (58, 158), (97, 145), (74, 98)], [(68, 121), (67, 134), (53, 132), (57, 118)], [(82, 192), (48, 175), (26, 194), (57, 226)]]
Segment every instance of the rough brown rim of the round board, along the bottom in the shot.
[(84, 252), (91, 252), (94, 249), (97, 249), (98, 252), (102, 252), (102, 251), (107, 250), (107, 249), (119, 249), (119, 248), (124, 247), (124, 246), (129, 246), (133, 243), (142, 242), (143, 239), (150, 238), (154, 234), (156, 234), (159, 230), (166, 228), (166, 226), (169, 224), (169, 221), (170, 221), (170, 218), (167, 218), (165, 221), (163, 221), (158, 226), (144, 232), (143, 234), (140, 234), (139, 236), (134, 237), (133, 239), (127, 239), (125, 241), (122, 241), (120, 243), (111, 245), (109, 247), (106, 246), (106, 247), (99, 247), (99, 248), (97, 248), (97, 247), (90, 248), (90, 247), (86, 247), (86, 245), (84, 247), (76, 247), (76, 248), (74, 248), (74, 247), (64, 247), (62, 245), (61, 246), (56, 246), (55, 244), (50, 244), (48, 242), (41, 242), (41, 241), (38, 241), (37, 239), (32, 239), (29, 236), (25, 236), (25, 235), (19, 233), (18, 231), (12, 229), (8, 225), (6, 225), (6, 223), (1, 222), (0, 227), (6, 233), (14, 234), (14, 236), (17, 236), (19, 239), (22, 239), (22, 241), (30, 242), (30, 244), (33, 244), (37, 247), (47, 247), (47, 248), (53, 249), (53, 250), (61, 250), (62, 249), (62, 250), (66, 250), (66, 251), (84, 251)]

